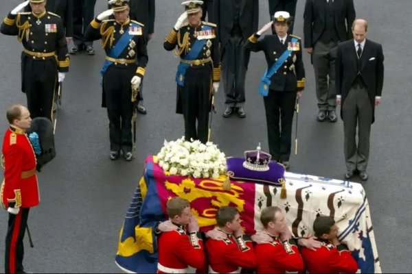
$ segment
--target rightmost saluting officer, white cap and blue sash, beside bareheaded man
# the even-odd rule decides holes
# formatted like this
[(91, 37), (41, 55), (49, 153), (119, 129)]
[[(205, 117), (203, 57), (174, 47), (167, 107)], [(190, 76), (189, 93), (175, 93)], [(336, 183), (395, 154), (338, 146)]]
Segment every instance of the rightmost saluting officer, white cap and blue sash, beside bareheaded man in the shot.
[[(291, 21), (288, 12), (276, 12), (273, 22), (253, 34), (245, 45), (245, 49), (264, 51), (266, 56), (268, 69), (262, 77), (259, 92), (263, 95), (266, 110), (269, 151), (272, 160), (281, 162), (286, 169), (289, 169), (295, 101), (301, 97), (305, 86), (301, 39), (288, 35)], [(266, 35), (258, 40), (272, 25), (275, 25), (276, 35)]]

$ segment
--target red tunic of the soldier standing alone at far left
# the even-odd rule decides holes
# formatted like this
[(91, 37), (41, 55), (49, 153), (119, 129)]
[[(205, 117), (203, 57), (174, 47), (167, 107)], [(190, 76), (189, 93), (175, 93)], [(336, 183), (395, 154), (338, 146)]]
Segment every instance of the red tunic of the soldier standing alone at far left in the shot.
[(36, 155), (21, 129), (7, 129), (3, 139), (4, 182), (1, 201), (7, 208), (31, 208), (40, 201), (36, 176)]

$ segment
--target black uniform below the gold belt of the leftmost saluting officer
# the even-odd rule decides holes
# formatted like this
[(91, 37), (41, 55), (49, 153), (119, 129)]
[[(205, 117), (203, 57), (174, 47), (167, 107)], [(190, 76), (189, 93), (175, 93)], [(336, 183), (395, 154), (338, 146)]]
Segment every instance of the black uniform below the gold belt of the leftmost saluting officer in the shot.
[(22, 60), (23, 92), (32, 119), (46, 117), (52, 120), (54, 89), (56, 87), (56, 60), (34, 60), (24, 55)]

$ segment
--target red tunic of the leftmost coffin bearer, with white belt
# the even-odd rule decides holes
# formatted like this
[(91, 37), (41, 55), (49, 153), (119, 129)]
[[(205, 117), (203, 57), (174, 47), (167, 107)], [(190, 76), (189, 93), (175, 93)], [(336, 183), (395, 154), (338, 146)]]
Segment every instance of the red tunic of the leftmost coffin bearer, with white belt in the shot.
[(178, 228), (162, 232), (158, 239), (159, 264), (157, 273), (186, 273), (187, 266), (200, 269), (205, 263), (203, 240), (194, 232), (189, 235)]

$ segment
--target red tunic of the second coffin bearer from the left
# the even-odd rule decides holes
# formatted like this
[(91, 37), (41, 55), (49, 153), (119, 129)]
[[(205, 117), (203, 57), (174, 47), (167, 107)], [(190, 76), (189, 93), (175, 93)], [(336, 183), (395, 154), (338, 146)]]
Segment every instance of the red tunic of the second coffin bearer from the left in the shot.
[[(240, 239), (239, 239), (240, 238)], [(250, 236), (224, 240), (206, 241), (209, 273), (239, 273), (239, 268), (254, 269), (256, 267), (255, 253)]]

